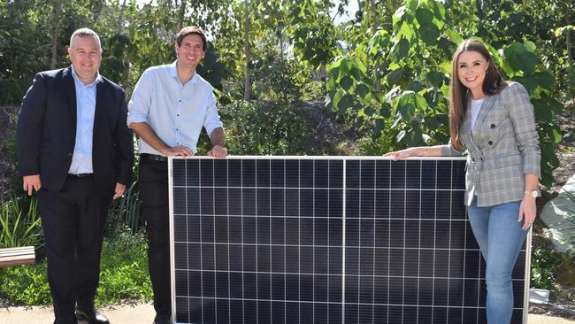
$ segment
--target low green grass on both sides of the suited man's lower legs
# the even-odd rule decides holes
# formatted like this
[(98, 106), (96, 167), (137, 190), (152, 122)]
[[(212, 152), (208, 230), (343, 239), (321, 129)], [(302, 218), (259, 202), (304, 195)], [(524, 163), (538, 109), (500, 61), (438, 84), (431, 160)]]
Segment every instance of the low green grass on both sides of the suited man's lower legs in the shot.
[[(96, 306), (115, 305), (126, 299), (151, 299), (146, 251), (141, 232), (119, 233), (104, 241)], [(50, 304), (46, 261), (1, 269), (0, 297), (19, 305)]]

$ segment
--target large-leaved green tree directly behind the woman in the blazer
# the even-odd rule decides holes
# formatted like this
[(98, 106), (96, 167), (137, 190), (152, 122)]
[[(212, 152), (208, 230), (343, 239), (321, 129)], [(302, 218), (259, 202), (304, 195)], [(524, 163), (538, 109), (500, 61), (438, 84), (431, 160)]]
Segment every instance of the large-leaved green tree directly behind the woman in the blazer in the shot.
[[(453, 17), (469, 17), (470, 9), (460, 3), (406, 0), (395, 11), (392, 31), (372, 34), (367, 56), (356, 50), (329, 66), (326, 104), (334, 112), (354, 116), (358, 129), (371, 134), (371, 143), (389, 143), (378, 141), (381, 136), (395, 138), (388, 147), (376, 146), (381, 151), (364, 151), (381, 154), (448, 142), (451, 57), (457, 43), (481, 25), (479, 20), (460, 23)], [(495, 64), (529, 92), (540, 135), (541, 183), (550, 187), (551, 172), (559, 165), (553, 147), (562, 138), (554, 120), (563, 109), (553, 98), (555, 77), (534, 42), (495, 43), (502, 44), (501, 49), (488, 46)], [(378, 71), (371, 73), (370, 65), (379, 66)]]

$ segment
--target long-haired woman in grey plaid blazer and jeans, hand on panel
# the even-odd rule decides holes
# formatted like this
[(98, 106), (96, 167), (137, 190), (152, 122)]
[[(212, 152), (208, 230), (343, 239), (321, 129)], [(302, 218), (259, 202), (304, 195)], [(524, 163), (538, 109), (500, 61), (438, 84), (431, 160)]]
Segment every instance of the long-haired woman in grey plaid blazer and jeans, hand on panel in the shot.
[(539, 196), (540, 149), (533, 105), (521, 84), (502, 81), (483, 43), (464, 41), (452, 63), (449, 144), (386, 156), (456, 156), (467, 151), (465, 204), (487, 266), (487, 320), (509, 324), (511, 271), (535, 220)]

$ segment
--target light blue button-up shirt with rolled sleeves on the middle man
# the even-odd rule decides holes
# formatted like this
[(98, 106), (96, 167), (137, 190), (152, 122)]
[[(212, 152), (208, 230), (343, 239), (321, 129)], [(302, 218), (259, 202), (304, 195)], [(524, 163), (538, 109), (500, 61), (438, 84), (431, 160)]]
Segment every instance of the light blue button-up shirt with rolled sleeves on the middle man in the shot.
[[(211, 84), (198, 73), (182, 84), (176, 62), (142, 73), (128, 103), (128, 127), (134, 122), (146, 122), (167, 145), (184, 145), (194, 152), (202, 127), (208, 135), (223, 127)], [(142, 139), (139, 146), (140, 153), (161, 155)]]

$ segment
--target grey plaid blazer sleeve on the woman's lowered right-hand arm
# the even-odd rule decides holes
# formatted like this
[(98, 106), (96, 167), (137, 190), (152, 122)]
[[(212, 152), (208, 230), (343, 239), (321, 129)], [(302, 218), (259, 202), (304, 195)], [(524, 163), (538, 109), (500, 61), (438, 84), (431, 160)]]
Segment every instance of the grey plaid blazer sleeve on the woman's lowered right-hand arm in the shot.
[(523, 156), (523, 173), (540, 176), (541, 152), (533, 104), (529, 101), (529, 95), (521, 84), (513, 82), (507, 88), (503, 90), (506, 93), (505, 109), (513, 124), (517, 149)]

